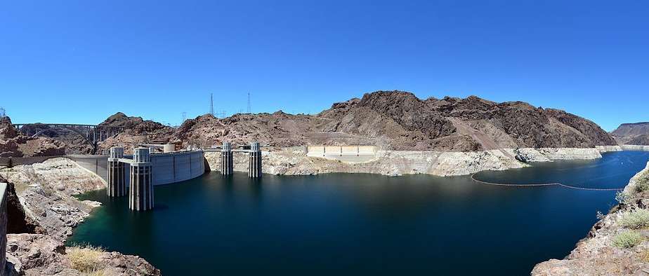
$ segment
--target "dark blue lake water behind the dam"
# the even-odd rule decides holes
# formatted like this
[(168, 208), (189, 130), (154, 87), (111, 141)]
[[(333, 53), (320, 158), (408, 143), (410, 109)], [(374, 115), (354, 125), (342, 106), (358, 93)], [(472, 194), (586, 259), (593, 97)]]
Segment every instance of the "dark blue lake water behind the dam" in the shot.
[[(537, 163), (476, 179), (619, 188), (649, 152)], [(105, 190), (69, 243), (146, 258), (164, 275), (529, 275), (563, 258), (616, 204), (615, 191), (512, 188), (470, 177), (322, 174), (261, 180), (210, 173), (155, 187), (155, 209), (131, 212)]]

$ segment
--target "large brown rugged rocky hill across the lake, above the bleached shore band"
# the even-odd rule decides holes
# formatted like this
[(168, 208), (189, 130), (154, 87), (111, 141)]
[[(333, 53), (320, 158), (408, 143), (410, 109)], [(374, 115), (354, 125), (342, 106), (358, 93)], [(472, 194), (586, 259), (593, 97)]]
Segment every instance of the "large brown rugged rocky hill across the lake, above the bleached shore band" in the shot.
[(188, 120), (173, 139), (197, 146), (260, 141), (268, 146), (365, 144), (381, 149), (476, 151), (499, 148), (586, 148), (615, 145), (598, 125), (557, 109), (524, 102), (419, 99), (377, 91), (339, 102), (315, 116), (237, 114)]

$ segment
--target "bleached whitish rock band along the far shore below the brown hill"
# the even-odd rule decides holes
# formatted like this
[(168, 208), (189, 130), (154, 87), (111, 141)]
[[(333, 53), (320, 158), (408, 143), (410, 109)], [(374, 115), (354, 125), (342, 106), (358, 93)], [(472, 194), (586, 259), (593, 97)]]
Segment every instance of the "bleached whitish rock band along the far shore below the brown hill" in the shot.
[[(594, 160), (601, 153), (623, 151), (622, 146), (597, 146), (594, 148), (541, 148), (497, 149), (490, 151), (376, 151), (365, 162), (350, 163), (344, 160), (308, 156), (303, 147), (270, 149), (262, 153), (262, 171), (275, 175), (309, 175), (323, 173), (369, 173), (388, 176), (403, 174), (431, 174), (450, 177), (474, 174), (485, 170), (509, 170), (527, 167), (514, 158), (517, 154), (529, 162), (554, 160)], [(636, 150), (636, 149), (634, 149)], [(640, 150), (638, 148), (638, 150)], [(645, 151), (649, 151), (646, 146)], [(210, 170), (221, 171), (221, 154), (205, 153)], [(247, 172), (247, 157), (235, 155), (234, 170)]]

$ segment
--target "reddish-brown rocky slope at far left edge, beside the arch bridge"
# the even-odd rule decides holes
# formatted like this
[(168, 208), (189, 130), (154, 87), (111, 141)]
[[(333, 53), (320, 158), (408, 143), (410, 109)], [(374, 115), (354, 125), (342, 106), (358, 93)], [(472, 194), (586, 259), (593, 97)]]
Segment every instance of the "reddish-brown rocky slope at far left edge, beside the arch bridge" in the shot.
[(51, 138), (26, 137), (18, 133), (11, 118), (0, 118), (0, 157), (60, 156), (65, 144)]

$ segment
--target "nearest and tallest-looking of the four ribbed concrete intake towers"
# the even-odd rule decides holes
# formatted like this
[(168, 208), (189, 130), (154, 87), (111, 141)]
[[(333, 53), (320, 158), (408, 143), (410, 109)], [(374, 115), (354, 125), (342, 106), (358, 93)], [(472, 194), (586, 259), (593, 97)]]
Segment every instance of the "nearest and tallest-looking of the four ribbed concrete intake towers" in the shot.
[(129, 208), (134, 211), (153, 209), (153, 179), (151, 158), (148, 148), (133, 150), (131, 163), (131, 186), (129, 188)]

